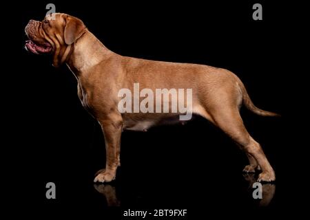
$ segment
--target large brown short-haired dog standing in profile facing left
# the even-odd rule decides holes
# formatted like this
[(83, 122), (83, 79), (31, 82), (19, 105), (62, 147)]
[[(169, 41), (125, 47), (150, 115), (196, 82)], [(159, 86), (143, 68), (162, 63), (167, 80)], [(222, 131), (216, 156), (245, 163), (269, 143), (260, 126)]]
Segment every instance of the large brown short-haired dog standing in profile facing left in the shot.
[[(245, 172), (262, 170), (258, 181), (274, 181), (273, 168), (265, 154), (247, 132), (240, 117), (243, 103), (258, 115), (274, 116), (254, 106), (240, 79), (226, 69), (187, 63), (147, 61), (115, 54), (108, 50), (85, 27), (80, 19), (68, 14), (54, 14), (54, 19), (30, 20), (25, 27), (30, 41), (25, 47), (35, 54), (50, 53), (53, 65), (66, 63), (78, 81), (78, 95), (83, 107), (101, 124), (105, 137), (106, 166), (99, 170), (94, 181), (112, 181), (120, 166), (120, 144), (123, 129), (145, 131), (176, 113), (121, 113), (118, 91), (141, 89), (191, 88), (192, 113), (203, 116), (222, 129), (249, 158)], [(180, 98), (179, 98), (180, 101)], [(171, 110), (171, 100), (169, 109)], [(184, 102), (186, 104), (187, 102)]]

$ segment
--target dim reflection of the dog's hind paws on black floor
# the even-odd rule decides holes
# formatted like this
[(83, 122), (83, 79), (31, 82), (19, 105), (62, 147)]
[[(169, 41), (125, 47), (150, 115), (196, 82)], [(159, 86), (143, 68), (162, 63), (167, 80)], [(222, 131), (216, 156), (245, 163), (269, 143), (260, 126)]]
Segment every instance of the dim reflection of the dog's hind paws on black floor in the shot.
[[(249, 182), (248, 190), (253, 191), (253, 184), (256, 182), (256, 177), (254, 173), (245, 173), (243, 174), (245, 180)], [(271, 202), (274, 193), (276, 192), (276, 184), (262, 184), (262, 199), (260, 199), (259, 206), (268, 206)]]

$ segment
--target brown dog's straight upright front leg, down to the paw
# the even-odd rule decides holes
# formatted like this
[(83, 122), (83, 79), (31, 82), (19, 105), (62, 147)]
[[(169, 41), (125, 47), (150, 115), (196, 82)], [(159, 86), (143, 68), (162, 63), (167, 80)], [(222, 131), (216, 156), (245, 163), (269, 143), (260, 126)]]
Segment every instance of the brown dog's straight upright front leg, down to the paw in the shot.
[(119, 148), (121, 145), (121, 133), (123, 120), (119, 113), (110, 114), (104, 120), (99, 120), (105, 137), (105, 169), (96, 173), (94, 182), (108, 182), (115, 179), (116, 169), (119, 164)]

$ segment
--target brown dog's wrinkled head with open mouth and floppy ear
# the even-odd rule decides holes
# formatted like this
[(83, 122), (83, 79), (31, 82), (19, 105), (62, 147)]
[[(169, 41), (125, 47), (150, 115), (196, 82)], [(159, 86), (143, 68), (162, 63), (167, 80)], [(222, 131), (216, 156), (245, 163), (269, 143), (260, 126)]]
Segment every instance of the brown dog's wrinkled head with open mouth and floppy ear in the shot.
[(43, 21), (30, 20), (25, 27), (26, 50), (34, 54), (53, 54), (53, 65), (59, 66), (70, 54), (71, 46), (82, 36), (86, 27), (80, 19), (54, 13)]

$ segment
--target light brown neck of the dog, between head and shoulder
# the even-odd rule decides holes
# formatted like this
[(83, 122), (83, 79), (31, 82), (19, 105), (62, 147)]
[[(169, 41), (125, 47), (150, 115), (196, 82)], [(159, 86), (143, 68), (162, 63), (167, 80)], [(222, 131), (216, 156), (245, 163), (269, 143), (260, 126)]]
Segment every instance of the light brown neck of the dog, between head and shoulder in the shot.
[(85, 33), (74, 43), (72, 54), (66, 63), (78, 78), (113, 54), (114, 52), (108, 50), (94, 34), (85, 30)]

